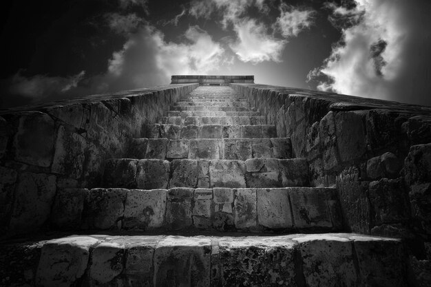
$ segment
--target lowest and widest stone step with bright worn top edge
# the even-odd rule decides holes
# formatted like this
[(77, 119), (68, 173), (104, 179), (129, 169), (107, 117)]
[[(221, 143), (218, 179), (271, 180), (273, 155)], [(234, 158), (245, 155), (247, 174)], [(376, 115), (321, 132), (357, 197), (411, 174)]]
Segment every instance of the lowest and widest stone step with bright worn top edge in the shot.
[(5, 286), (408, 286), (406, 248), (386, 237), (52, 237), (2, 246)]

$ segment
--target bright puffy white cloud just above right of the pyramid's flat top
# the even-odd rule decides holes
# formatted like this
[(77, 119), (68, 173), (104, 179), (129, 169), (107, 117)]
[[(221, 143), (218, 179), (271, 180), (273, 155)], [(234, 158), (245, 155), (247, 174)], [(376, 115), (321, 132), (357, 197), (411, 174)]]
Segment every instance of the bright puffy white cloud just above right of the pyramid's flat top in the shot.
[(238, 40), (231, 43), (230, 47), (243, 62), (253, 64), (263, 61), (280, 62), (286, 40), (275, 39), (267, 34), (266, 27), (253, 19), (246, 19), (235, 23)]

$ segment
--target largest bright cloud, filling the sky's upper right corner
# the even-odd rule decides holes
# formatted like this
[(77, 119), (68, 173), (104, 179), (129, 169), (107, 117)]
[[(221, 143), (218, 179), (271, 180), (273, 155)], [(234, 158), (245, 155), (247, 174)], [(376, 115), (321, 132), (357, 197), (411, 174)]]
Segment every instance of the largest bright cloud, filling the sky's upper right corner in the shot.
[[(431, 9), (426, 1), (356, 0), (341, 41), (310, 78), (318, 89), (431, 105)], [(428, 11), (428, 12), (427, 12)], [(359, 16), (358, 16), (359, 15)], [(357, 23), (350, 21), (356, 19)], [(359, 18), (358, 18), (359, 17)], [(427, 27), (427, 28), (425, 28)], [(322, 80), (326, 76), (326, 80)], [(320, 78), (319, 78), (320, 77)]]

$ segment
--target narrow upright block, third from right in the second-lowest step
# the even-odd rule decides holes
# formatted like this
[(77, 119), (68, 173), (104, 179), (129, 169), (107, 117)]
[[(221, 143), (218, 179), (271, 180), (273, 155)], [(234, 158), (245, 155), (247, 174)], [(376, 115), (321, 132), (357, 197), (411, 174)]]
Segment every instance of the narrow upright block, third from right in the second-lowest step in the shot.
[(256, 189), (238, 189), (235, 198), (235, 227), (257, 227)]

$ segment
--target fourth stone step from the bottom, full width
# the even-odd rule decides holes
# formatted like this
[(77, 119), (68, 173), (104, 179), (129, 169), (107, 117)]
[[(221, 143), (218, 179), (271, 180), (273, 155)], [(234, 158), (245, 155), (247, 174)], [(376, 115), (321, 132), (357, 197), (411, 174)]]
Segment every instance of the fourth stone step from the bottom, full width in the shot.
[(127, 158), (158, 160), (248, 160), (292, 158), (290, 138), (185, 139), (134, 138)]

